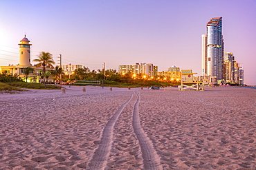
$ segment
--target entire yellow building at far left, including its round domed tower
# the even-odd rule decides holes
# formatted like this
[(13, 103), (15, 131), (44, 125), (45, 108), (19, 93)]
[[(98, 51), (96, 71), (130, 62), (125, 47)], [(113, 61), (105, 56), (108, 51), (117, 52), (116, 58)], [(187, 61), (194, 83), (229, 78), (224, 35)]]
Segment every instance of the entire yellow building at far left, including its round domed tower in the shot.
[[(19, 75), (19, 78), (23, 81), (26, 81), (26, 75), (24, 71), (27, 67), (32, 67), (34, 69), (33, 72), (28, 74), (28, 82), (29, 83), (39, 83), (42, 76), (42, 67), (36, 67), (31, 65), (30, 59), (30, 41), (24, 36), (21, 39), (19, 45), (19, 64), (17, 65), (8, 65), (8, 66), (0, 66), (0, 74), (6, 73), (9, 75)], [(46, 72), (51, 70), (50, 68), (46, 68)]]

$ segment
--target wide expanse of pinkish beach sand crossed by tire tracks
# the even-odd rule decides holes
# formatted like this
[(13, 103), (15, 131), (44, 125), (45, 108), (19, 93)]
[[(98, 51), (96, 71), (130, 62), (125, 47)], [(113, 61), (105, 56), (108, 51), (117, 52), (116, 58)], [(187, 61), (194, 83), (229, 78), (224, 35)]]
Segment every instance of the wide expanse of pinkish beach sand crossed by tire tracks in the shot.
[(0, 169), (256, 169), (255, 110), (242, 87), (0, 94)]

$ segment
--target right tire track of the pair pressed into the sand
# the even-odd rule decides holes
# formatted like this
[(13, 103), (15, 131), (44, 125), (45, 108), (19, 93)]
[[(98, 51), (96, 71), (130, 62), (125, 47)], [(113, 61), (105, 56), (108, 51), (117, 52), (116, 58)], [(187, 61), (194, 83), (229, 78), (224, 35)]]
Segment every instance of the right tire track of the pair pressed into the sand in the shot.
[(154, 149), (151, 140), (145, 134), (145, 131), (140, 125), (140, 116), (138, 112), (138, 105), (140, 103), (140, 94), (137, 94), (137, 101), (134, 105), (134, 115), (132, 120), (132, 125), (134, 127), (134, 133), (138, 138), (138, 142), (140, 144), (140, 149), (143, 155), (143, 163), (144, 169), (147, 170), (156, 170), (156, 169), (163, 169), (160, 164), (160, 158)]

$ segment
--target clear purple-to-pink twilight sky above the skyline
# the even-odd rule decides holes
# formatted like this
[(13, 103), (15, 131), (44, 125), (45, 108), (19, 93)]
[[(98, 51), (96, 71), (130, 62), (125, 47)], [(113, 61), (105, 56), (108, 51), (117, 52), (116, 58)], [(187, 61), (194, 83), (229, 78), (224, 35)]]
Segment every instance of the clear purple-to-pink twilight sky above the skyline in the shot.
[[(50, 52), (57, 64), (90, 70), (153, 63), (201, 75), (201, 34), (222, 17), (225, 52), (256, 85), (256, 0), (0, 0), (0, 65), (19, 63), (19, 41), (33, 45), (31, 61)], [(33, 63), (33, 62), (32, 62)]]

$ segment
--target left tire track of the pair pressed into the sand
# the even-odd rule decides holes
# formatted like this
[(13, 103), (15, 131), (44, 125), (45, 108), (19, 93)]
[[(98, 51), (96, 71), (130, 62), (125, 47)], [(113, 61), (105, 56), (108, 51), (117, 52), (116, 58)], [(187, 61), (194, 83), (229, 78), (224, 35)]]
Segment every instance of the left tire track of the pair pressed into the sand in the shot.
[(122, 110), (131, 101), (131, 98), (133, 96), (134, 94), (131, 94), (131, 97), (124, 104), (121, 105), (118, 111), (116, 111), (116, 113), (113, 114), (109, 122), (104, 127), (102, 132), (102, 138), (100, 140), (100, 145), (98, 149), (95, 150), (93, 158), (89, 162), (89, 169), (98, 170), (98, 169), (104, 169), (104, 167), (106, 167), (107, 158), (109, 156), (109, 153), (111, 150), (111, 144), (113, 142), (112, 141), (113, 127), (116, 124), (116, 120), (118, 120), (118, 117), (122, 113)]

